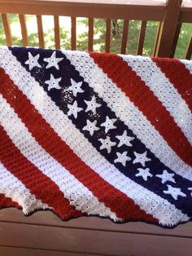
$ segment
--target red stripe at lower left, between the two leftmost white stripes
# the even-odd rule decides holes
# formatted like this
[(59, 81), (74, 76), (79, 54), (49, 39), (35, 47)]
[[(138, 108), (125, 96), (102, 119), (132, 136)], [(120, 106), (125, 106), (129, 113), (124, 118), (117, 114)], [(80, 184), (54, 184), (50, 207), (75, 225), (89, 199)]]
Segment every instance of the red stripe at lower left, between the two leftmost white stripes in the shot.
[(11, 171), (17, 179), (20, 179), (37, 199), (53, 207), (55, 213), (63, 219), (82, 215), (64, 198), (58, 186), (21, 154), (2, 126), (0, 126), (0, 138), (2, 165)]

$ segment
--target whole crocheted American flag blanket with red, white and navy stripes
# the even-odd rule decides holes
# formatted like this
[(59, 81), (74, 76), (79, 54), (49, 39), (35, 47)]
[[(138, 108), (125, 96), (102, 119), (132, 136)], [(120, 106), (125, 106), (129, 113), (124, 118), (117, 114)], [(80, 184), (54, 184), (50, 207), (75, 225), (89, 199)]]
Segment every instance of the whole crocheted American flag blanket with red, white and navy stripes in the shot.
[(0, 48), (0, 207), (192, 219), (192, 61)]

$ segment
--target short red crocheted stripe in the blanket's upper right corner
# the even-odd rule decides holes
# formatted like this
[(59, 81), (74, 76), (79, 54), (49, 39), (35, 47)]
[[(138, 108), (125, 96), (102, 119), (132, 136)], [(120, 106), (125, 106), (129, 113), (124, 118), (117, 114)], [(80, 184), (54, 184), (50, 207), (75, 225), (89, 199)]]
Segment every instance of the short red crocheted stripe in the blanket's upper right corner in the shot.
[(152, 60), (168, 77), (192, 111), (192, 75), (190, 70), (185, 68), (185, 64), (179, 60), (168, 58), (152, 58)]

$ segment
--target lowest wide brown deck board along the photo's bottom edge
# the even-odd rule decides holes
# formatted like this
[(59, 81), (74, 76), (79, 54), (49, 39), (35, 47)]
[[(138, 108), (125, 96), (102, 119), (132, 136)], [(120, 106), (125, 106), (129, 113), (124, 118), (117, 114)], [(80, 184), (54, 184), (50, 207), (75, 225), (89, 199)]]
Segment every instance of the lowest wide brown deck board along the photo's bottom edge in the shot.
[(3, 222), (0, 229), (0, 245), (4, 246), (113, 256), (190, 256), (192, 251), (192, 239), (177, 236)]

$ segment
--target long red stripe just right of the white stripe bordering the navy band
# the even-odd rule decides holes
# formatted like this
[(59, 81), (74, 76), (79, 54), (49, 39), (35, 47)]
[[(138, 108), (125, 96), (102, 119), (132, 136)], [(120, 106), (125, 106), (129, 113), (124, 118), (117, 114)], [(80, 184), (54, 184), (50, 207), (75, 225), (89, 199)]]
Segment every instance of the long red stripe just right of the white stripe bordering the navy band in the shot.
[(145, 82), (137, 76), (124, 60), (115, 54), (89, 53), (103, 72), (116, 83), (125, 95), (151, 121), (159, 134), (185, 163), (192, 166), (192, 147), (181, 128), (153, 94)]

